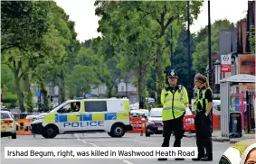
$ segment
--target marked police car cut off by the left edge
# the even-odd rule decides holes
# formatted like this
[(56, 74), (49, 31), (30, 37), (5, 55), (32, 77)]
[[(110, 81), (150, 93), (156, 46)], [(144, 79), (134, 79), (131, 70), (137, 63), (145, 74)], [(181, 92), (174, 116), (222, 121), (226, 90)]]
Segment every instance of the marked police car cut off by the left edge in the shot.
[(1, 113), (1, 137), (12, 136), (12, 139), (16, 139), (16, 126), (13, 115), (8, 111), (0, 111)]

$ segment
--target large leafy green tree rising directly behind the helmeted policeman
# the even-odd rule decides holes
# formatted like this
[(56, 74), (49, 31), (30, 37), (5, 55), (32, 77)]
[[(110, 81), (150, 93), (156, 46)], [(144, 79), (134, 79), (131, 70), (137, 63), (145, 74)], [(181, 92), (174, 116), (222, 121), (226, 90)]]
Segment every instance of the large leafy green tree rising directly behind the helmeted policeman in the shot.
[[(119, 68), (137, 70), (138, 95), (143, 95), (150, 71), (156, 73), (154, 81), (159, 94), (159, 90), (165, 86), (163, 69), (170, 64), (168, 29), (172, 23), (175, 48), (181, 26), (186, 20), (186, 2), (98, 1), (95, 5), (96, 14), (101, 17), (98, 31), (113, 46), (115, 52), (112, 54), (121, 56)], [(202, 5), (199, 1), (191, 3), (192, 22), (200, 13)], [(156, 64), (151, 68), (154, 61)], [(150, 93), (153, 95), (154, 92), (151, 90)]]

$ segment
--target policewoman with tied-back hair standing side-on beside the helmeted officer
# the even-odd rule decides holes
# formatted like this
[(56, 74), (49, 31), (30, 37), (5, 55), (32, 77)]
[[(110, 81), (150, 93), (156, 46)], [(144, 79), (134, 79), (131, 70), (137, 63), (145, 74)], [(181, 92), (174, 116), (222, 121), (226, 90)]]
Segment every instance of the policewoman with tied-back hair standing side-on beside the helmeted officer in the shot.
[[(212, 142), (212, 117), (213, 92), (209, 87), (208, 78), (201, 74), (195, 77), (194, 87), (197, 88), (195, 109), (195, 132), (198, 157), (193, 160), (212, 161), (213, 160), (213, 142)], [(206, 156), (204, 155), (204, 148)]]

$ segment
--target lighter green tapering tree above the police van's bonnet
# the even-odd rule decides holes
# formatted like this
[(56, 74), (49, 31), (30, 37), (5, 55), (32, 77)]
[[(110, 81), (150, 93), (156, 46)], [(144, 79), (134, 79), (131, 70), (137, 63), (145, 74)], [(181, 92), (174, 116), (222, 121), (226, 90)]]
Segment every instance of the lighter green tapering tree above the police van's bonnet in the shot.
[[(73, 61), (73, 55), (80, 49), (76, 42), (76, 33), (74, 32), (74, 23), (69, 20), (69, 16), (64, 10), (52, 2), (51, 5), (51, 26), (43, 37), (42, 53), (47, 57), (44, 62), (36, 63), (36, 71), (33, 71), (33, 79), (41, 88), (43, 94), (44, 110), (49, 108), (46, 83), (51, 82), (53, 85), (61, 83), (63, 87), (63, 71), (69, 69)], [(62, 79), (60, 80), (60, 77)], [(61, 92), (61, 98), (64, 98)]]

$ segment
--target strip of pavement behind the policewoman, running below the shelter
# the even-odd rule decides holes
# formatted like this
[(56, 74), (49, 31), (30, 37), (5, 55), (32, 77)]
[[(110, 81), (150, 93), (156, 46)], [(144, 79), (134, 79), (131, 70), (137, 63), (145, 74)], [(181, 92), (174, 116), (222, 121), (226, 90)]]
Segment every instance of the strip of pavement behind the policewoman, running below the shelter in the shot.
[[(185, 137), (195, 139), (195, 133), (185, 132)], [(218, 131), (218, 130), (213, 131), (213, 141), (236, 143), (238, 141), (255, 139), (255, 138), (256, 138), (255, 133), (250, 133), (250, 134), (244, 133), (241, 138), (226, 138), (226, 137), (222, 137), (221, 131)]]

